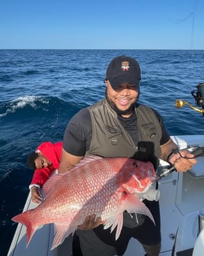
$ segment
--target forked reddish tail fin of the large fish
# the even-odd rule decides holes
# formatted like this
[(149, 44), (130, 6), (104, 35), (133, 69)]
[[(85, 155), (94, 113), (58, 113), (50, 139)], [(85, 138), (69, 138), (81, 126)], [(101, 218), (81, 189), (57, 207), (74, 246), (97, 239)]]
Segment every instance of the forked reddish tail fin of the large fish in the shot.
[(28, 210), (26, 212), (22, 212), (21, 214), (15, 215), (11, 220), (13, 222), (20, 222), (27, 228), (27, 238), (26, 238), (26, 245), (28, 246), (30, 243), (31, 238), (33, 237), (34, 232), (37, 230), (37, 226), (35, 225), (34, 221), (31, 221), (32, 219), (32, 209)]

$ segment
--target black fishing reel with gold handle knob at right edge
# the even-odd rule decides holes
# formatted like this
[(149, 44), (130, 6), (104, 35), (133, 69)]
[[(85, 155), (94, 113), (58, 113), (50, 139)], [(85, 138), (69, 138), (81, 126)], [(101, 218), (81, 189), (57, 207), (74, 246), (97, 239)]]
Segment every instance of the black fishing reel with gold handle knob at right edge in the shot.
[(182, 99), (177, 99), (175, 102), (175, 105), (177, 108), (182, 108), (183, 105), (188, 105), (191, 109), (196, 110), (197, 112), (202, 113), (204, 116), (204, 83), (199, 83), (197, 87), (197, 90), (193, 90), (191, 92), (193, 98), (195, 99), (196, 105), (201, 107), (202, 109), (198, 109), (194, 107), (193, 105), (190, 105), (189, 102), (185, 102)]

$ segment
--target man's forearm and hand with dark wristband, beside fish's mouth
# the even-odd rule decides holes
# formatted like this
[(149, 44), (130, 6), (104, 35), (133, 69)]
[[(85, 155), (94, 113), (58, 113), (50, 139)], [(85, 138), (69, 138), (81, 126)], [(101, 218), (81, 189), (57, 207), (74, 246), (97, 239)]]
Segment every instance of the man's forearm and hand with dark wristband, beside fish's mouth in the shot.
[(174, 164), (177, 171), (184, 172), (190, 170), (196, 164), (197, 161), (195, 158), (185, 158), (194, 157), (193, 154), (190, 154), (188, 151), (180, 151), (181, 155), (179, 153), (174, 154), (174, 149), (177, 149), (177, 144), (170, 138), (167, 143), (161, 145), (161, 159)]

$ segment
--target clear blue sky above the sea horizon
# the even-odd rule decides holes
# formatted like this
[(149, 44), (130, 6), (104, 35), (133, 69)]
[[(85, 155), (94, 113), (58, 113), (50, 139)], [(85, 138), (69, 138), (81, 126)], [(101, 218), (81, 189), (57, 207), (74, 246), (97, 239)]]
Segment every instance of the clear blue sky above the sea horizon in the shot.
[(204, 50), (203, 0), (2, 0), (0, 49)]

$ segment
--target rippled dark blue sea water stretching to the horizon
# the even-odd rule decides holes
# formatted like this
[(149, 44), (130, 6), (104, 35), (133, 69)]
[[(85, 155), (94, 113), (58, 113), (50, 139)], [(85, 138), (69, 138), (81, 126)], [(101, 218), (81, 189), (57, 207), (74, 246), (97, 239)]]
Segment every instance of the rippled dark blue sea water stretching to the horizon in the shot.
[(126, 54), (141, 66), (139, 102), (163, 116), (171, 135), (203, 134), (204, 117), (191, 91), (204, 83), (204, 50), (0, 50), (0, 251), (8, 252), (33, 171), (26, 159), (41, 142), (61, 141), (79, 109), (104, 97), (113, 57)]

